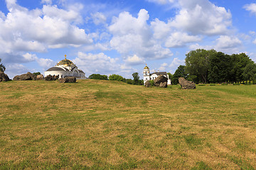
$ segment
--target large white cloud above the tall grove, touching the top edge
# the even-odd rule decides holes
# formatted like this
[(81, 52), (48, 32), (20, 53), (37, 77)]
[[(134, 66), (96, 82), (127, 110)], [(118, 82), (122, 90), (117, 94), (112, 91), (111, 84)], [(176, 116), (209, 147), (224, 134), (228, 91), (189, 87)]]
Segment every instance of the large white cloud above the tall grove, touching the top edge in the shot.
[(179, 0), (180, 11), (171, 26), (193, 34), (223, 35), (231, 26), (231, 13), (208, 0)]

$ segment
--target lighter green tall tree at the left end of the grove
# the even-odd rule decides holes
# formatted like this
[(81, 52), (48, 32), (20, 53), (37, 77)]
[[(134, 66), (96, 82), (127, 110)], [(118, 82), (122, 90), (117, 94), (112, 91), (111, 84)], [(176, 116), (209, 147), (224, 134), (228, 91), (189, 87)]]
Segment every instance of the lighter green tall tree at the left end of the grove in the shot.
[(215, 50), (192, 50), (186, 54), (186, 72), (192, 76), (196, 76), (198, 82), (207, 82), (208, 64), (210, 55), (213, 55)]

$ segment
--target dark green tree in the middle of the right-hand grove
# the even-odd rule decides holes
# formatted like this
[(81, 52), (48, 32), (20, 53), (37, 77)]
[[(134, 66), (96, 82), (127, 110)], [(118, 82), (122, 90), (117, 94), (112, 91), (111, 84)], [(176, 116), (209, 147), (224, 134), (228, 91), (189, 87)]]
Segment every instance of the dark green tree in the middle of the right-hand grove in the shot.
[(210, 83), (228, 82), (230, 77), (231, 63), (230, 55), (216, 52), (210, 55), (208, 64), (208, 80)]

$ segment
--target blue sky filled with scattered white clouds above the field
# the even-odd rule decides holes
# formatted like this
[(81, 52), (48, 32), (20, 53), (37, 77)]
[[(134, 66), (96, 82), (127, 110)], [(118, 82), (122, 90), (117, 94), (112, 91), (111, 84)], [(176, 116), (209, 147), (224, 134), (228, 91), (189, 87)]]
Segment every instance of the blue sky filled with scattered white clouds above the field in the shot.
[(13, 78), (64, 55), (86, 76), (175, 72), (198, 48), (256, 61), (256, 1), (0, 0), (0, 58)]

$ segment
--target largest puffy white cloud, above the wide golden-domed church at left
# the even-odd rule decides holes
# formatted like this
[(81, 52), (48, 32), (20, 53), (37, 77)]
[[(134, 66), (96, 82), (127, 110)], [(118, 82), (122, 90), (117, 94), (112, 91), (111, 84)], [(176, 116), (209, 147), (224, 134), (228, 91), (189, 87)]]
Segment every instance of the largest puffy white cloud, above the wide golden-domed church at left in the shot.
[(81, 20), (78, 11), (50, 5), (28, 10), (18, 6), (15, 0), (6, 0), (6, 6), (9, 13), (6, 16), (1, 13), (0, 17), (0, 50), (6, 56), (92, 43), (85, 30), (74, 24)]

